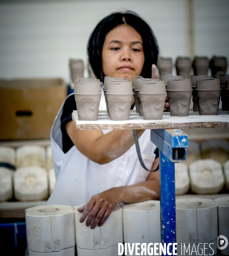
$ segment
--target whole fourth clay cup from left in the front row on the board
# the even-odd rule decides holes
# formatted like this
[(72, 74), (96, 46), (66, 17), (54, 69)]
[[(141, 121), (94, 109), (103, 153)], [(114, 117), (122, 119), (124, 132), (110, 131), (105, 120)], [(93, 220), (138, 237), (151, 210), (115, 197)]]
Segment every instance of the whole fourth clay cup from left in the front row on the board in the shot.
[(188, 116), (192, 96), (191, 79), (168, 80), (166, 91), (171, 116)]

